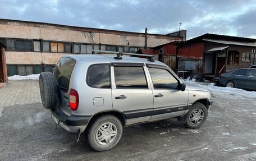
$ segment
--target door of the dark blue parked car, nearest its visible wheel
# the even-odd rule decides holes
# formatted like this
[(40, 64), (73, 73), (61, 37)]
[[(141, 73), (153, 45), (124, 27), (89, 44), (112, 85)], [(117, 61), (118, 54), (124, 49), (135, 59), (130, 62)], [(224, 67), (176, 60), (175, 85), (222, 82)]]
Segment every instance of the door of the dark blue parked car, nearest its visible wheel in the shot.
[(246, 88), (247, 69), (240, 69), (232, 73), (231, 80), (234, 81), (236, 88)]

